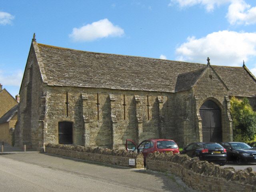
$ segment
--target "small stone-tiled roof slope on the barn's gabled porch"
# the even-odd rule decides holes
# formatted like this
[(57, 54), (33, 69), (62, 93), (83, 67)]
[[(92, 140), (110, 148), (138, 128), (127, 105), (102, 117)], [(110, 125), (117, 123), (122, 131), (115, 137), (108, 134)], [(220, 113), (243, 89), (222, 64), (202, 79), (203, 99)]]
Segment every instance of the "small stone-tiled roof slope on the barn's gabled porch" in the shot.
[(175, 92), (188, 90), (196, 83), (205, 67), (178, 75)]

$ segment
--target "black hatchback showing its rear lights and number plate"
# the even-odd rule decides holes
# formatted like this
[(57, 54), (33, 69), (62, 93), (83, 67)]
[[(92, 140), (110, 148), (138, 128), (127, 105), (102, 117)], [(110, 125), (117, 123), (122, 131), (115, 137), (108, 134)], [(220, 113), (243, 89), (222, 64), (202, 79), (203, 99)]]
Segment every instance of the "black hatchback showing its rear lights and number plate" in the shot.
[(197, 157), (199, 160), (218, 163), (220, 166), (226, 164), (226, 149), (214, 142), (194, 142), (186, 146), (180, 154), (189, 157)]

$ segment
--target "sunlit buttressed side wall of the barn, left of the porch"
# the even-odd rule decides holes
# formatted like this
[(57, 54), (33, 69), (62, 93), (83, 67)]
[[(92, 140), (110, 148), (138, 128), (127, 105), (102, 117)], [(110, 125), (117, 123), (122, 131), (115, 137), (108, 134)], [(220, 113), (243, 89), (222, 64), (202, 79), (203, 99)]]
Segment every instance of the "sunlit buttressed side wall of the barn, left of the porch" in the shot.
[(139, 144), (169, 132), (165, 94), (55, 86), (46, 89), (46, 143), (58, 144), (60, 121), (73, 122), (73, 143), (82, 146), (124, 148), (127, 138)]

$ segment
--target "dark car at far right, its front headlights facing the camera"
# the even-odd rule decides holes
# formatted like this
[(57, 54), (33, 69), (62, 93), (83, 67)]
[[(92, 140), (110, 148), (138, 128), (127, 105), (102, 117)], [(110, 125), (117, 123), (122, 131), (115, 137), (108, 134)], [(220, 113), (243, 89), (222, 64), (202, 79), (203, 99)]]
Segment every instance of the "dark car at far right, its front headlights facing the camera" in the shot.
[(227, 150), (227, 161), (237, 164), (256, 162), (256, 150), (243, 142), (222, 142), (221, 145)]

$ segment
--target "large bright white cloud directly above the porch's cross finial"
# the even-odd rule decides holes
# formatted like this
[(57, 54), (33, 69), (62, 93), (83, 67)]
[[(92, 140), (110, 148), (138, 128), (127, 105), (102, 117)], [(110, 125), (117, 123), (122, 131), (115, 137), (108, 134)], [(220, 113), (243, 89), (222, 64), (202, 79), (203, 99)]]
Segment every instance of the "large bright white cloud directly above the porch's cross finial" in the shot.
[(219, 31), (206, 37), (188, 37), (187, 42), (176, 48), (177, 60), (212, 65), (241, 66), (250, 57), (256, 56), (256, 33)]

